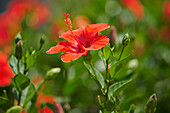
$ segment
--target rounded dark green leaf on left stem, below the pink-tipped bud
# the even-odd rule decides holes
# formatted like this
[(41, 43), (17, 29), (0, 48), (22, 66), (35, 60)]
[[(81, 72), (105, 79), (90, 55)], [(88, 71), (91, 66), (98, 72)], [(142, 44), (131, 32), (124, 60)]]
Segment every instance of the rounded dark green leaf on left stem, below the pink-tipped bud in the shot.
[(13, 78), (13, 84), (14, 86), (19, 90), (22, 91), (24, 90), (30, 83), (30, 79), (23, 75), (22, 73), (18, 73), (14, 78)]

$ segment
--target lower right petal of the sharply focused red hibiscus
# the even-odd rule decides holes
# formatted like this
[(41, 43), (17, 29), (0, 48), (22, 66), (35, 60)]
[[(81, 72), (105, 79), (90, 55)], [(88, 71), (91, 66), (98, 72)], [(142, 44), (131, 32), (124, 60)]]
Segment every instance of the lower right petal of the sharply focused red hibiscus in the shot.
[(109, 43), (109, 38), (105, 35), (98, 35), (97, 38), (93, 40), (91, 46), (87, 50), (98, 50)]

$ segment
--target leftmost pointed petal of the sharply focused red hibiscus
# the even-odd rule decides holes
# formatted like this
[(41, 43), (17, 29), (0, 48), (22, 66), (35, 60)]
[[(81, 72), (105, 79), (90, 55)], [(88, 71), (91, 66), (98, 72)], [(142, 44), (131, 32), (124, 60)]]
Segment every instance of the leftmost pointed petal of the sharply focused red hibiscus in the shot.
[(51, 47), (46, 53), (54, 54), (54, 53), (62, 52), (62, 51), (67, 50), (69, 46), (70, 46), (70, 43), (68, 41), (59, 42), (56, 46)]

